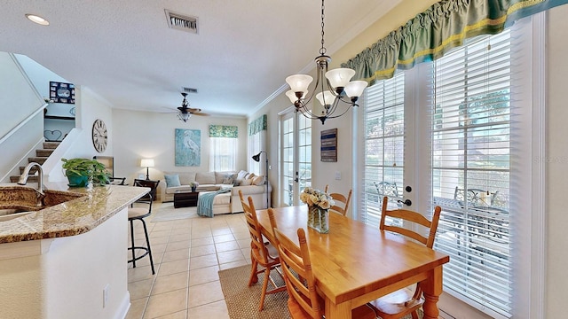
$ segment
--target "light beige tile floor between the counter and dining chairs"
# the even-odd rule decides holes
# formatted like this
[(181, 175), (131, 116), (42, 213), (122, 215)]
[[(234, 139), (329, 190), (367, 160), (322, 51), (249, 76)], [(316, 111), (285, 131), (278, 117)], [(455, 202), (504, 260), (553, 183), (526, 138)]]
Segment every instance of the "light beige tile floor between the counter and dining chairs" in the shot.
[[(168, 205), (172, 204), (156, 203), (153, 210)], [(152, 217), (146, 218), (146, 227), (156, 274), (152, 275), (147, 256), (137, 261), (136, 268), (128, 264), (127, 318), (228, 319), (217, 271), (250, 264), (244, 215), (169, 222), (152, 222)], [(141, 225), (135, 222), (135, 242), (146, 246)]]

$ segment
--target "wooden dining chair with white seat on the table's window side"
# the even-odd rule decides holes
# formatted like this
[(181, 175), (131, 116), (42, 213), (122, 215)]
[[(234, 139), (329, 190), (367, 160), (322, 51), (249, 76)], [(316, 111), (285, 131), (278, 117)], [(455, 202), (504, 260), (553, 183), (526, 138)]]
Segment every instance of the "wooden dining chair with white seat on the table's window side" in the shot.
[[(429, 221), (422, 214), (413, 212), (407, 209), (387, 209), (387, 201), (389, 198), (383, 198), (383, 213), (381, 214), (380, 230), (386, 230), (398, 233), (400, 235), (413, 238), (415, 241), (422, 245), (432, 248), (434, 239), (436, 238), (436, 230), (438, 230), (438, 220), (440, 218), (441, 208), (436, 206), (432, 220)], [(404, 223), (411, 222), (417, 225), (422, 230), (428, 230), (428, 237), (422, 236), (422, 233), (414, 231), (415, 228), (404, 228), (395, 225), (387, 225), (385, 220), (387, 217), (401, 219)], [(414, 230), (413, 230), (414, 229)], [(422, 288), (420, 283), (416, 284), (414, 293), (412, 289), (401, 289), (397, 292), (392, 292), (377, 300), (369, 302), (375, 309), (377, 315), (383, 319), (397, 319), (405, 315), (412, 314), (413, 319), (418, 319), (418, 309), (422, 307), (424, 300), (422, 299)]]

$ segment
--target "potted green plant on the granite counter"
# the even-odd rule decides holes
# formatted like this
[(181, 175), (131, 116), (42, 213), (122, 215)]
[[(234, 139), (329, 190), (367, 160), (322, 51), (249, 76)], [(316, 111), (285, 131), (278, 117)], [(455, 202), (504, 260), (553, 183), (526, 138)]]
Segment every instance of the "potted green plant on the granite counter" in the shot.
[(106, 172), (105, 166), (96, 159), (61, 160), (69, 186), (85, 187), (89, 182), (93, 185), (104, 185), (110, 182), (110, 175)]

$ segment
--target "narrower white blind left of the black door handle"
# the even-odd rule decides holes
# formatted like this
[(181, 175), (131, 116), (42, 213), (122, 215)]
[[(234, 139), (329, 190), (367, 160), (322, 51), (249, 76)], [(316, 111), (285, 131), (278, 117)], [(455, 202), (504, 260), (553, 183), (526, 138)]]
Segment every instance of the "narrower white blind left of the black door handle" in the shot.
[[(365, 95), (365, 156), (360, 218), (378, 227), (383, 197), (389, 205), (400, 206), (404, 172), (405, 76), (375, 83)], [(392, 221), (389, 221), (392, 222)]]

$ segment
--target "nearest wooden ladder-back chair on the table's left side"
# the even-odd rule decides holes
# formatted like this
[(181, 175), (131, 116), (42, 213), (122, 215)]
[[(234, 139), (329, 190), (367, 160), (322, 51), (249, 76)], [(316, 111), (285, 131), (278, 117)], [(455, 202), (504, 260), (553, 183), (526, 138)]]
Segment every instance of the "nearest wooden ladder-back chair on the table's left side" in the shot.
[[(323, 299), (316, 290), (316, 280), (312, 272), (312, 261), (305, 230), (302, 228), (297, 230), (299, 246), (281, 233), (278, 227), (272, 230), (277, 241), (282, 273), (288, 290), (290, 315), (294, 319), (321, 319), (325, 307), (323, 307)], [(353, 309), (351, 316), (362, 319), (375, 319), (376, 317), (375, 311), (368, 305)]]

